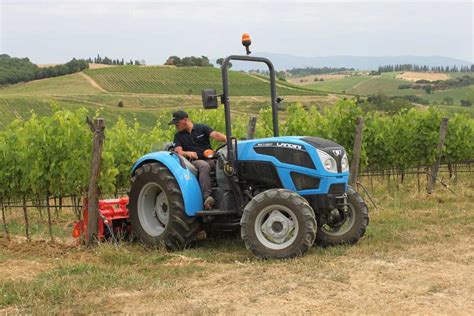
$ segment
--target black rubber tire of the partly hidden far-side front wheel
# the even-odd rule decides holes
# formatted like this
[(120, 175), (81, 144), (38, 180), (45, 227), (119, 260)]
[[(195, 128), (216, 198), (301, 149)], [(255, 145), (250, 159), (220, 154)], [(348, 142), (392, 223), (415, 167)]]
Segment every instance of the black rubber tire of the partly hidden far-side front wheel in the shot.
[[(319, 246), (336, 246), (343, 244), (355, 244), (359, 239), (364, 236), (365, 230), (369, 225), (369, 210), (367, 204), (351, 186), (347, 190), (347, 203), (349, 204), (351, 216), (354, 216), (353, 220), (349, 222), (350, 225), (344, 230), (335, 229), (330, 232), (330, 225), (321, 225), (318, 227), (318, 233), (316, 234), (316, 244)], [(321, 223), (322, 221), (319, 221)], [(342, 228), (342, 227), (341, 227)]]

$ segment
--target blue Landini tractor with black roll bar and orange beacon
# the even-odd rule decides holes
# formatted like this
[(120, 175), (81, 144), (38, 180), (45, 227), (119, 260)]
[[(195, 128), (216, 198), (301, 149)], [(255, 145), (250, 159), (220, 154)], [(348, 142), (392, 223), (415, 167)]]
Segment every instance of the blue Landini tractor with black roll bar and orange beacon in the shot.
[[(303, 255), (316, 242), (322, 246), (354, 244), (369, 223), (368, 208), (348, 185), (345, 149), (313, 136), (278, 133), (275, 71), (270, 60), (232, 55), (222, 64), (223, 93), (202, 91), (205, 109), (224, 104), (227, 143), (216, 150), (213, 178), (216, 209), (204, 210), (197, 171), (169, 151), (141, 157), (132, 168), (129, 220), (146, 245), (183, 249), (202, 230), (238, 231), (259, 258)], [(228, 65), (232, 60), (263, 62), (270, 72), (274, 137), (232, 137)]]

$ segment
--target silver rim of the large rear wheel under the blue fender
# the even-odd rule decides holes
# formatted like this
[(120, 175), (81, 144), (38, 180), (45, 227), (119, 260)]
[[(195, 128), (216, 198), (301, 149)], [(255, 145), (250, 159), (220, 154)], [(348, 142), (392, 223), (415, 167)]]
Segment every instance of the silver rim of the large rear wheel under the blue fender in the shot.
[(138, 219), (150, 236), (160, 236), (169, 222), (169, 204), (165, 192), (156, 183), (143, 186), (138, 195)]

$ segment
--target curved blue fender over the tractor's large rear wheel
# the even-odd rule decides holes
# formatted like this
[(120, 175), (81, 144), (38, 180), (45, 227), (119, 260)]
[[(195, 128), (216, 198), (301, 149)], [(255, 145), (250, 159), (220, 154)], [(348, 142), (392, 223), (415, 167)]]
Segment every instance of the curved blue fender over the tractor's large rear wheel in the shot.
[(177, 154), (169, 151), (158, 151), (147, 154), (135, 162), (132, 174), (145, 163), (160, 162), (168, 168), (178, 182), (183, 196), (184, 211), (188, 216), (195, 216), (196, 212), (204, 209), (201, 187), (197, 178), (180, 162)]

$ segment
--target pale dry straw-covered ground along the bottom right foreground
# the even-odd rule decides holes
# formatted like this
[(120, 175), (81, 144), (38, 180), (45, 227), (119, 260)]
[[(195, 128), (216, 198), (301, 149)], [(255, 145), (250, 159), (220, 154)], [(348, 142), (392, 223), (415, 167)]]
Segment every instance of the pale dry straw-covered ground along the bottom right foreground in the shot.
[(432, 249), (413, 248), (379, 259), (337, 258), (324, 267), (216, 264), (178, 284), (180, 298), (147, 291), (112, 297), (127, 302), (124, 313), (463, 314), (474, 310), (473, 241), (465, 240), (467, 249), (440, 250), (432, 262), (415, 258)]

